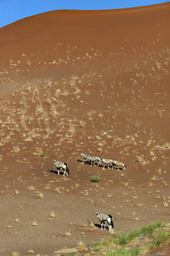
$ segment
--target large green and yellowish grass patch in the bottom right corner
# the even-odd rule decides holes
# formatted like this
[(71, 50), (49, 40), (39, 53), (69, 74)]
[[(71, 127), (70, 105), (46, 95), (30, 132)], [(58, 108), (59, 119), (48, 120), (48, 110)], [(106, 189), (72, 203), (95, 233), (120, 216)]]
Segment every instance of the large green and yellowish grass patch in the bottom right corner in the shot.
[[(87, 255), (103, 256), (137, 256), (144, 252), (150, 254), (150, 250), (165, 244), (168, 246), (170, 239), (170, 225), (157, 221), (139, 230), (129, 233), (115, 233), (111, 238), (102, 241), (91, 241)], [(67, 254), (67, 256), (80, 256), (79, 252)]]

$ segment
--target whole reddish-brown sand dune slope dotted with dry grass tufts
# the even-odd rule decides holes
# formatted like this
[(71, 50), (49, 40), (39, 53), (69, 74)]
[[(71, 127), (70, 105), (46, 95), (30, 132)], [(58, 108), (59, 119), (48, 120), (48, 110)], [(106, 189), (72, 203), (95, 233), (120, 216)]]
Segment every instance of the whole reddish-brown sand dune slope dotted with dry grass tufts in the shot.
[[(94, 211), (116, 231), (169, 221), (169, 12), (60, 10), (0, 29), (4, 255), (112, 236)], [(82, 151), (127, 171), (83, 163)], [(68, 177), (52, 169), (56, 156)]]

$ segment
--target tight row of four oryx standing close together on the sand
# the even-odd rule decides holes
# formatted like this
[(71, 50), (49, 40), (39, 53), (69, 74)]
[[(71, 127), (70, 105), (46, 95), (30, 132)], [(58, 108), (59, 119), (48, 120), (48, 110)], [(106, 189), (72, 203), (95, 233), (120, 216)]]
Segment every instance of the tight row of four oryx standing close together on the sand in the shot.
[(105, 166), (107, 166), (107, 168), (109, 169), (110, 165), (112, 169), (122, 169), (122, 171), (126, 171), (127, 166), (125, 165), (125, 163), (121, 162), (121, 161), (117, 161), (114, 159), (105, 159), (105, 158), (101, 158), (99, 156), (93, 156), (91, 154), (84, 154), (83, 152), (81, 152), (80, 156), (83, 157), (83, 163), (85, 162), (89, 162), (90, 166), (95, 166), (95, 163), (97, 163), (97, 166), (101, 166), (101, 164), (103, 163), (104, 166), (103, 168), (105, 168)]

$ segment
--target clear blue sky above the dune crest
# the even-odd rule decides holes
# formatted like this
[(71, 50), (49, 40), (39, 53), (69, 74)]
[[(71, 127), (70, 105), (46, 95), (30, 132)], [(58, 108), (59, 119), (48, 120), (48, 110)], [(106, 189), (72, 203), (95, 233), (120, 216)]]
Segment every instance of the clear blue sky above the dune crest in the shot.
[(0, 0), (0, 27), (56, 9), (123, 9), (167, 2), (161, 0)]

